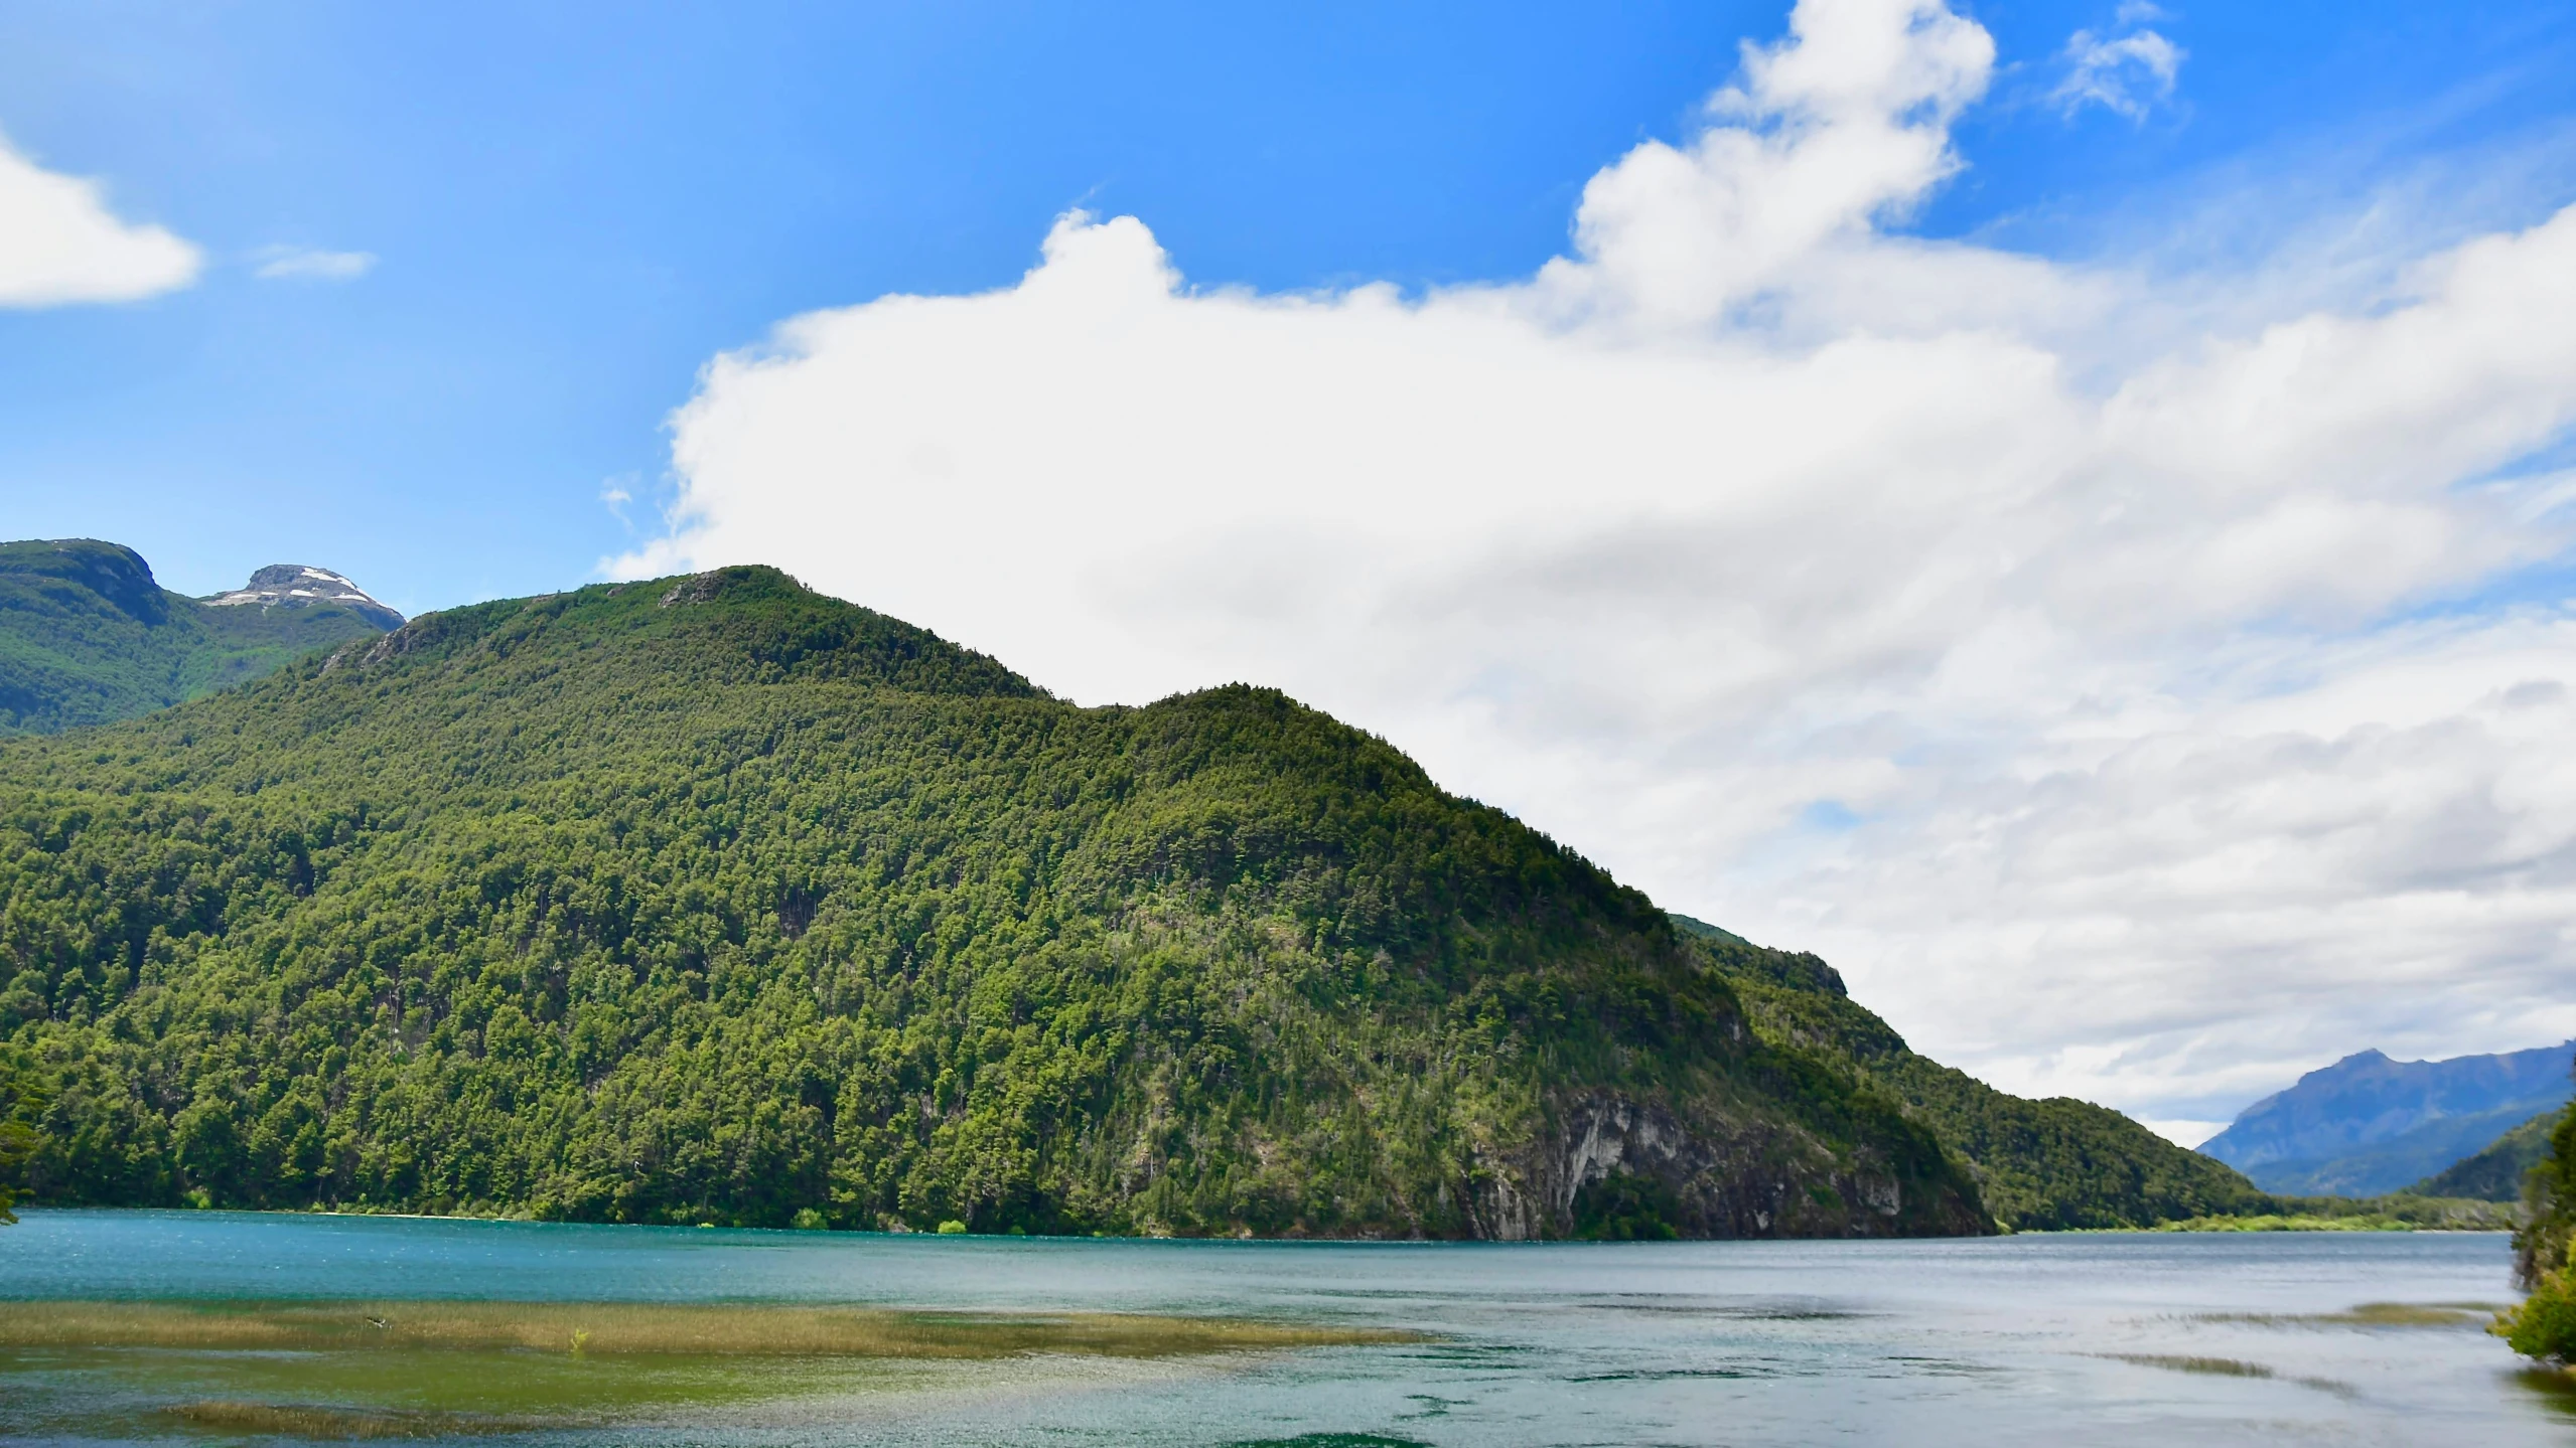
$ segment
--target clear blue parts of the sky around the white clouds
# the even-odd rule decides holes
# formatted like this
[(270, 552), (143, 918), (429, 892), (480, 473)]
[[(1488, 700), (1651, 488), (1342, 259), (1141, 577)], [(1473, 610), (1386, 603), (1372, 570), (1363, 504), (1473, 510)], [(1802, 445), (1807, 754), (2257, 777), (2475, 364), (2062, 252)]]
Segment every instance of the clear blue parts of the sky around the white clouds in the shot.
[[(2308, 208), (2458, 154), (2568, 175), (2571, 5), (2172, 8), (2187, 62), (2136, 121), (2048, 103), (2112, 5), (1968, 13), (1999, 80), (1929, 234), (2130, 244), (2277, 157)], [(407, 610), (582, 581), (629, 522), (657, 527), (662, 419), (696, 370), (783, 316), (1005, 285), (1074, 203), (1141, 216), (1198, 285), (1517, 278), (1566, 247), (1597, 167), (1682, 134), (1783, 18), (13, 5), (0, 131), (209, 267), (142, 303), (0, 311), (0, 530), (126, 540), (188, 592), (281, 558)], [(260, 280), (265, 247), (376, 265)]]

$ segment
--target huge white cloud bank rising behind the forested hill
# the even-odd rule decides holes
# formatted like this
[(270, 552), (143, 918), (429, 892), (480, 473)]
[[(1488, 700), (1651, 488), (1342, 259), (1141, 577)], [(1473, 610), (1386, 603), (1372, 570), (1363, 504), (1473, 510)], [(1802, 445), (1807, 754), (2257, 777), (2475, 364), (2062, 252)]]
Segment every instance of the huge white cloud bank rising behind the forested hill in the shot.
[(2285, 314), (1904, 237), (1991, 72), (1803, 0), (1515, 283), (1193, 288), (1069, 213), (711, 360), (611, 571), (781, 563), (1084, 702), (1280, 684), (2020, 1091), (2576, 1031), (2576, 612), (2460, 602), (2568, 548), (2517, 466), (2576, 211)]

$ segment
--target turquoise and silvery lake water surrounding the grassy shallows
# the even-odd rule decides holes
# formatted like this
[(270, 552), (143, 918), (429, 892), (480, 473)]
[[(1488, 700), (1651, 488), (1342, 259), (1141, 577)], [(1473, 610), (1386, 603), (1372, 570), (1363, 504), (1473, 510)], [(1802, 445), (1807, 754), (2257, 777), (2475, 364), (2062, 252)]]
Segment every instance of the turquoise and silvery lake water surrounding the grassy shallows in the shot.
[[(0, 1299), (173, 1296), (848, 1301), (1427, 1335), (786, 1373), (752, 1402), (629, 1404), (510, 1443), (2576, 1443), (2576, 1407), (2481, 1314), (2342, 1317), (2509, 1301), (2494, 1235), (1066, 1242), (214, 1211), (28, 1211), (0, 1229)], [(121, 1353), (0, 1353), (0, 1433), (227, 1440), (155, 1417), (214, 1368)], [(255, 1368), (276, 1402), (340, 1391), (327, 1355), (242, 1358), (258, 1361), (224, 1371)]]

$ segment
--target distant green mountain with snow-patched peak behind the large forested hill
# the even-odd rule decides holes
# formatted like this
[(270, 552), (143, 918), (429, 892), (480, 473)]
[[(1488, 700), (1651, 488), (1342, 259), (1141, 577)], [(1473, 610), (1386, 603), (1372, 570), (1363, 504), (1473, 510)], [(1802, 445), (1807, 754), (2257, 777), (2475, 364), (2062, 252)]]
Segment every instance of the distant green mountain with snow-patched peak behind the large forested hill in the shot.
[(147, 715), (402, 622), (374, 599), (270, 597), (173, 594), (116, 543), (0, 543), (0, 736)]

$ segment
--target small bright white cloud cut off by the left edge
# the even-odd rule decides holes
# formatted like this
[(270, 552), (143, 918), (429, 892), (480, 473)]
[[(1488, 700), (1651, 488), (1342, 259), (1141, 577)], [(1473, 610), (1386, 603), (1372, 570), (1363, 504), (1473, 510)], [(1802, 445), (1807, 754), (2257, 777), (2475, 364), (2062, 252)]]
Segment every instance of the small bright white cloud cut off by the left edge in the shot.
[(196, 247), (118, 221), (95, 180), (49, 172), (0, 141), (0, 306), (139, 301), (196, 270)]

